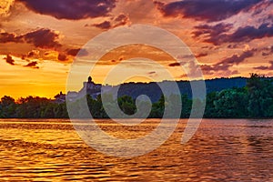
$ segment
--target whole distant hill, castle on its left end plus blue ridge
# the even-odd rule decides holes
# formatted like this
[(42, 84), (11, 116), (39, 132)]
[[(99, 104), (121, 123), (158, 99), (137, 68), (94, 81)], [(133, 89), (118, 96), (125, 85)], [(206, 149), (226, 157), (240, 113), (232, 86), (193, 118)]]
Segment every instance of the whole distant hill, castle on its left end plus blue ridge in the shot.
[[(262, 79), (273, 79), (273, 77), (265, 77)], [(207, 94), (211, 92), (218, 92), (227, 88), (233, 87), (244, 87), (247, 85), (248, 78), (246, 77), (233, 77), (233, 78), (215, 78), (205, 80)], [(192, 82), (201, 82), (192, 81)], [(120, 85), (117, 97), (120, 96), (131, 96), (136, 99), (137, 96), (146, 95), (151, 101), (157, 102), (160, 96), (162, 96), (162, 91), (159, 86), (167, 86), (173, 84), (173, 81), (163, 81), (163, 82), (151, 82), (151, 83), (125, 83)], [(189, 81), (177, 81), (177, 86), (181, 95), (187, 95), (188, 97), (192, 96), (192, 89)], [(170, 87), (170, 86), (167, 86)], [(67, 97), (69, 100), (76, 100), (83, 96), (86, 96), (86, 93), (93, 98), (96, 98), (101, 94), (101, 89), (104, 90), (104, 93), (114, 95), (117, 86), (102, 86), (96, 84), (92, 81), (91, 76), (88, 77), (88, 81), (84, 82), (84, 87), (79, 92), (68, 92)], [(168, 90), (167, 95), (172, 93)], [(179, 94), (179, 93), (177, 93)]]

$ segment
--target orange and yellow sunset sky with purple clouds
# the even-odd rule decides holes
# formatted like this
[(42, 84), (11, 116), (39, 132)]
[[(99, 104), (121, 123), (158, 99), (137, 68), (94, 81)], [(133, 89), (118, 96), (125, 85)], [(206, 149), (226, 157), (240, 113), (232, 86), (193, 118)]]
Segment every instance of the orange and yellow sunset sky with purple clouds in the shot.
[[(273, 76), (272, 0), (1, 0), (0, 96), (52, 98), (65, 92), (76, 58), (94, 54), (85, 48), (88, 41), (133, 25), (176, 35), (206, 79)], [(187, 80), (181, 65), (188, 59), (177, 63), (157, 47), (126, 45), (108, 50), (90, 75), (96, 83), (116, 85), (125, 80), (105, 80), (117, 66), (120, 76), (138, 70), (128, 82), (162, 81), (163, 67), (175, 80)]]

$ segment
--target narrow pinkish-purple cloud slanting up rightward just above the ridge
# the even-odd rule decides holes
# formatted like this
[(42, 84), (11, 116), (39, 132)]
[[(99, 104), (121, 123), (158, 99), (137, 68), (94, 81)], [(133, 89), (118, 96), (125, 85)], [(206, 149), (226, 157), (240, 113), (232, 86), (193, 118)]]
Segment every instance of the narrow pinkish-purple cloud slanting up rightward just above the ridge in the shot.
[(231, 70), (229, 70), (229, 68), (234, 65), (239, 65), (240, 63), (244, 62), (248, 57), (254, 56), (256, 52), (257, 49), (251, 49), (243, 52), (241, 55), (229, 56), (214, 65), (211, 66), (203, 65), (201, 66), (201, 68), (203, 72), (207, 75), (211, 75), (214, 72), (219, 71), (230, 72), (230, 74), (235, 74), (235, 72), (232, 72)]

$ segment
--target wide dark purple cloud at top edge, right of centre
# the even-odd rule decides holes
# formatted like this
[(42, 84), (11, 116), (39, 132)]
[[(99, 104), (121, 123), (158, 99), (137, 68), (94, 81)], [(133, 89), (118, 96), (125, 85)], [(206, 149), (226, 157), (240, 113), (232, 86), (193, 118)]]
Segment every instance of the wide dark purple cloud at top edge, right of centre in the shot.
[(262, 0), (184, 0), (163, 4), (155, 2), (165, 16), (194, 18), (196, 20), (217, 22), (227, 19), (239, 12), (248, 11)]

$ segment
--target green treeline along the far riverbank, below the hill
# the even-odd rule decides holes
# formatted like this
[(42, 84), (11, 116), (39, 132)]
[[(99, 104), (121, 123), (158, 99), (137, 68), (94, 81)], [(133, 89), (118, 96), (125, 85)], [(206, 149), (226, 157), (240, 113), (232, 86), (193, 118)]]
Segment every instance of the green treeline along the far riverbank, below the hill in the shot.
[[(93, 99), (91, 96), (82, 98), (87, 100), (89, 111), (96, 118), (107, 118), (101, 96)], [(153, 103), (148, 117), (162, 117), (165, 105), (171, 105), (176, 96), (164, 97)], [(111, 100), (111, 99), (110, 99)], [(181, 117), (187, 118), (191, 112), (192, 99), (187, 95), (181, 96)], [(202, 102), (199, 101), (200, 105)], [(106, 103), (111, 108), (112, 102)], [(120, 96), (118, 106), (127, 115), (136, 113), (136, 100), (130, 96)], [(141, 103), (145, 108), (148, 103)], [(204, 104), (204, 103), (203, 103)], [(81, 100), (73, 102), (73, 116), (85, 117)], [(148, 108), (147, 108), (148, 109)], [(4, 96), (0, 102), (1, 118), (68, 118), (66, 103), (56, 103), (41, 97), (28, 96), (15, 101), (10, 96)], [(248, 78), (247, 86), (228, 88), (219, 92), (207, 94), (204, 117), (207, 118), (270, 118), (273, 117), (273, 85), (271, 79), (252, 74)]]

